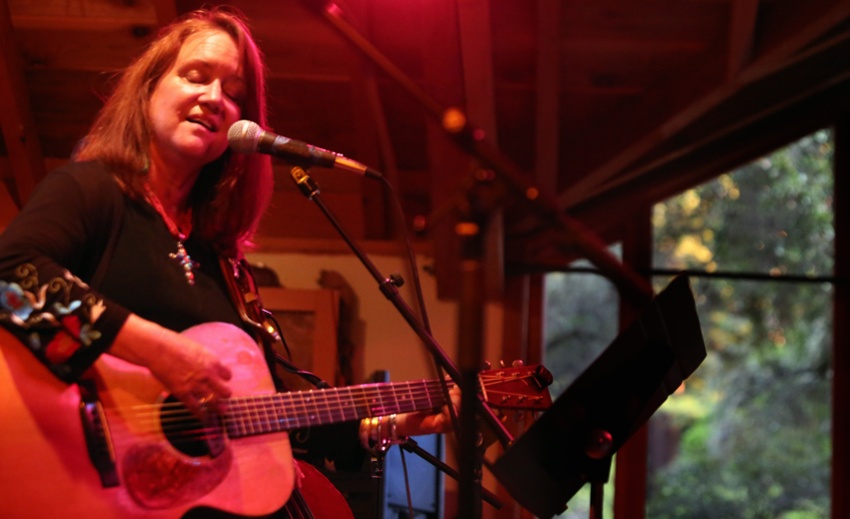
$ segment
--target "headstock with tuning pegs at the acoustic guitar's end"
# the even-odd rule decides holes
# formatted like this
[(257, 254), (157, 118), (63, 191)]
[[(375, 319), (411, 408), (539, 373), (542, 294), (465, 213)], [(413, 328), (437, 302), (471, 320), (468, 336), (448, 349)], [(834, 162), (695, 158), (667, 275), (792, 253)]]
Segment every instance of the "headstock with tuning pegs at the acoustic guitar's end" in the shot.
[(541, 365), (486, 370), (478, 380), (490, 407), (542, 411), (552, 405), (552, 374)]

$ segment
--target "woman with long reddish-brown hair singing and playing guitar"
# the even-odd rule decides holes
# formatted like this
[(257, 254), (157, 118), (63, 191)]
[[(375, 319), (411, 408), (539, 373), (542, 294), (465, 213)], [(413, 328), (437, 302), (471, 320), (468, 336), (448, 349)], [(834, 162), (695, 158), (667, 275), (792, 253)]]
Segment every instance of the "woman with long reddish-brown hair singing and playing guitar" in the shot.
[[(239, 267), (272, 172), (267, 156), (232, 153), (227, 130), (239, 119), (265, 126), (265, 110), (261, 54), (239, 15), (197, 11), (163, 29), (74, 161), (0, 236), (0, 322), (65, 382), (105, 354), (147, 368), (198, 416), (221, 410), (231, 369), (179, 332), (251, 328), (232, 288), (250, 286)], [(446, 423), (400, 416), (364, 437)]]

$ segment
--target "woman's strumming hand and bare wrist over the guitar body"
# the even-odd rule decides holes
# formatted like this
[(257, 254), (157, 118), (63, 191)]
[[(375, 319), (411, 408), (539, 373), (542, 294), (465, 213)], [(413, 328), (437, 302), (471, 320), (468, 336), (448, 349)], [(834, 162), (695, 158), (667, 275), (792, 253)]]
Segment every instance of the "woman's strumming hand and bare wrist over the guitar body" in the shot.
[(203, 345), (130, 315), (109, 353), (150, 370), (192, 412), (221, 410), (231, 395), (230, 369)]

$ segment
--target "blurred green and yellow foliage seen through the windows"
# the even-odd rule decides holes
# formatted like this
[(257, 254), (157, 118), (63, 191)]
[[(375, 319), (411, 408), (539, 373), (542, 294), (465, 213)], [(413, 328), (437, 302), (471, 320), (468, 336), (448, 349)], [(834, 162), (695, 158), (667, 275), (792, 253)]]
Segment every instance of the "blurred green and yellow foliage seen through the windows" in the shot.
[[(831, 275), (831, 162), (820, 131), (658, 204), (655, 266)], [(831, 285), (691, 282), (708, 357), (651, 421), (651, 445), (665, 452), (650, 452), (647, 517), (827, 517)], [(546, 295), (557, 394), (616, 335), (617, 299), (587, 274), (548, 276)]]

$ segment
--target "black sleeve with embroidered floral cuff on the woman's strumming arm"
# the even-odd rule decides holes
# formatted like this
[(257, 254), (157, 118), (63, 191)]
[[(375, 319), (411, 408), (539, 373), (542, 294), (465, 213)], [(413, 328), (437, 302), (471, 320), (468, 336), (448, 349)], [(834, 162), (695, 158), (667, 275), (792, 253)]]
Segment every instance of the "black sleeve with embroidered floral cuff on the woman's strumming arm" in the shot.
[(128, 315), (71, 273), (90, 275), (115, 218), (104, 208), (120, 196), (94, 173), (80, 178), (48, 175), (0, 236), (0, 325), (66, 382), (106, 351)]

